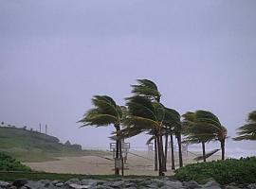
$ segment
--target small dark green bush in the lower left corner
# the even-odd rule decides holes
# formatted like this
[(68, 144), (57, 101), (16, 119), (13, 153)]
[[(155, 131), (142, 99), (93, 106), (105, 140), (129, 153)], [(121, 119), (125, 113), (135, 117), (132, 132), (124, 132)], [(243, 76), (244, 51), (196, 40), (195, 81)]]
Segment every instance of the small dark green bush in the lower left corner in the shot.
[(0, 152), (0, 171), (31, 171), (31, 169), (9, 155)]

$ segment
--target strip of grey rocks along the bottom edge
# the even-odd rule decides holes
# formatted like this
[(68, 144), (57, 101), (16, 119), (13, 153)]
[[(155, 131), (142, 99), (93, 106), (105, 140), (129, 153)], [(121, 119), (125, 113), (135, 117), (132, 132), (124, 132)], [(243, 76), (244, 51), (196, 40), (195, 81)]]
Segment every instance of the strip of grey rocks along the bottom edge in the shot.
[(179, 181), (170, 178), (163, 179), (115, 179), (115, 180), (79, 180), (71, 179), (65, 182), (59, 180), (14, 180), (1, 181), (0, 189), (256, 189), (256, 183), (220, 185), (215, 180), (208, 180), (205, 184), (196, 181)]

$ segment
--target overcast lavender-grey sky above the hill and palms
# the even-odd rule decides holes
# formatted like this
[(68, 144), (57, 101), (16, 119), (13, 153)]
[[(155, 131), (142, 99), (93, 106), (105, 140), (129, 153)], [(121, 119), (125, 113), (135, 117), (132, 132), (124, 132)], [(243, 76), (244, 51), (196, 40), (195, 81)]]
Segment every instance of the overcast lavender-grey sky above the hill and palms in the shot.
[(255, 9), (255, 0), (0, 0), (0, 121), (108, 146), (112, 127), (76, 121), (92, 95), (123, 105), (149, 78), (167, 107), (214, 112), (234, 136), (256, 110)]

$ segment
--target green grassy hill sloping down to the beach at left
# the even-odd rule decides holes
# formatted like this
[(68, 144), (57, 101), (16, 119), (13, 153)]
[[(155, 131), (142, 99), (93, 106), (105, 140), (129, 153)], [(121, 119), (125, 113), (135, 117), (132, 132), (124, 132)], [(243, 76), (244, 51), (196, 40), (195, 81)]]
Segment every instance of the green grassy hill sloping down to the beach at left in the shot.
[(21, 162), (45, 162), (62, 156), (104, 155), (103, 151), (82, 150), (64, 145), (59, 139), (37, 131), (0, 127), (0, 151)]

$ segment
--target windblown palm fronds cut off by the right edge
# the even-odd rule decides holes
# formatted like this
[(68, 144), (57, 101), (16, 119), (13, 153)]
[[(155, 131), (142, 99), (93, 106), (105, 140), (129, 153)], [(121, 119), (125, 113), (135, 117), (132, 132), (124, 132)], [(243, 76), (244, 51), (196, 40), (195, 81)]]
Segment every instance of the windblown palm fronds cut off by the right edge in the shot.
[(237, 134), (234, 140), (256, 140), (256, 111), (250, 112), (247, 118), (247, 124), (238, 128)]

